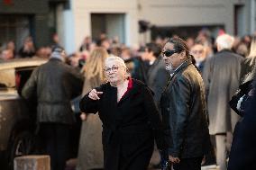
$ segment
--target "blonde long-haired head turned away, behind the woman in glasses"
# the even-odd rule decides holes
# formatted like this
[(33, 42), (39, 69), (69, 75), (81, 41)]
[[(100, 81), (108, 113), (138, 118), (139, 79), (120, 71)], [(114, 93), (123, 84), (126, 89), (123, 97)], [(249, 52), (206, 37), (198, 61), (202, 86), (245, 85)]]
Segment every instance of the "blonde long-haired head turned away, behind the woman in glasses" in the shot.
[(107, 57), (108, 54), (104, 48), (96, 47), (91, 51), (83, 67), (87, 79), (98, 76), (102, 82), (104, 81), (104, 65)]

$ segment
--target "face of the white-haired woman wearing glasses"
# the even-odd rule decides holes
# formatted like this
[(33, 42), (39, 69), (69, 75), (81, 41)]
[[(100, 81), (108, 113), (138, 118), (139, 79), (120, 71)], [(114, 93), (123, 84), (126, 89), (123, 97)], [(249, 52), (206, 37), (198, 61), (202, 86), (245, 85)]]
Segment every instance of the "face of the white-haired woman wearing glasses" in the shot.
[(125, 67), (115, 60), (106, 61), (104, 71), (106, 80), (113, 84), (123, 81), (126, 77)]

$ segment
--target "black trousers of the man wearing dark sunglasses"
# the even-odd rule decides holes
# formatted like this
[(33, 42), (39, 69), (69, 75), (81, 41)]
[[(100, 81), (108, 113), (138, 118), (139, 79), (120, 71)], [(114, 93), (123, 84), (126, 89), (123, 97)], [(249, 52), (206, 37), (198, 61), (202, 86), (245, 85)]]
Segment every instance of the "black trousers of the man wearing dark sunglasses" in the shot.
[(203, 157), (180, 159), (178, 164), (173, 165), (174, 170), (201, 170)]

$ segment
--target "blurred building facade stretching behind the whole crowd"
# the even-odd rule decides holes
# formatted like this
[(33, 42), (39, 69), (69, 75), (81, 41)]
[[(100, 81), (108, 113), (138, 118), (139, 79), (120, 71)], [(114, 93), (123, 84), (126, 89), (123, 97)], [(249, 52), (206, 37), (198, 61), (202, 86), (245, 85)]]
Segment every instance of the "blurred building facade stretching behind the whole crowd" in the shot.
[[(21, 41), (31, 34), (40, 46), (50, 43), (50, 34), (56, 31), (60, 45), (71, 53), (86, 36), (96, 39), (101, 32), (128, 46), (158, 35), (187, 37), (202, 28), (215, 34), (219, 29), (251, 34), (256, 28), (255, 9), (256, 0), (0, 0), (0, 33), (9, 36), (2, 41), (14, 34)], [(11, 18), (7, 24), (14, 22), (16, 27), (14, 31), (10, 26), (9, 33), (4, 28), (7, 15)]]

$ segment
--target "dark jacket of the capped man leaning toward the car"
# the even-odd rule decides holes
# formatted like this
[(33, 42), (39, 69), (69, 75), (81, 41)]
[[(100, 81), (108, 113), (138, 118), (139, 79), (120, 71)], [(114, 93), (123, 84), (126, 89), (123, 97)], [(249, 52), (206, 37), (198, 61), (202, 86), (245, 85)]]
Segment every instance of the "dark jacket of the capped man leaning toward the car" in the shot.
[(26, 99), (36, 96), (37, 120), (72, 124), (74, 116), (70, 101), (81, 94), (83, 78), (73, 67), (57, 58), (35, 68), (23, 87)]

